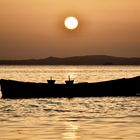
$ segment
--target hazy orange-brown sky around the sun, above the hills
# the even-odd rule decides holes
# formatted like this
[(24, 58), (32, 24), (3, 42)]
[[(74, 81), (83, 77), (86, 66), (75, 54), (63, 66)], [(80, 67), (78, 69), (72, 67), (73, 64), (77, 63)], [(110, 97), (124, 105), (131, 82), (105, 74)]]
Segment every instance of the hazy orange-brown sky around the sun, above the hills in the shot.
[(80, 55), (140, 57), (140, 0), (0, 0), (0, 59)]

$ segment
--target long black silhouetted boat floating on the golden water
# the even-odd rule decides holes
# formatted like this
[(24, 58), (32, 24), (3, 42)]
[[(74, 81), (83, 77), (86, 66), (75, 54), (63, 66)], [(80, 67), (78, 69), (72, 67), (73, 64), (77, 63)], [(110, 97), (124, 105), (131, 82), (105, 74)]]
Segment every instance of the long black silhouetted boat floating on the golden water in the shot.
[(52, 79), (46, 83), (1, 79), (0, 85), (4, 99), (140, 96), (140, 76), (96, 83), (74, 83), (69, 78), (64, 84)]

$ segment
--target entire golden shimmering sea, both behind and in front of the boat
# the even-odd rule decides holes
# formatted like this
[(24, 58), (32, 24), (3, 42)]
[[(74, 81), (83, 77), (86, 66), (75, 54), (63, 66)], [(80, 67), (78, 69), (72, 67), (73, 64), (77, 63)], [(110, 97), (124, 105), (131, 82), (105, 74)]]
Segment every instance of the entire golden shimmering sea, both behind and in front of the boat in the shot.
[[(130, 78), (140, 66), (0, 66), (0, 79), (64, 83), (68, 76)], [(140, 97), (0, 99), (0, 140), (140, 140)]]

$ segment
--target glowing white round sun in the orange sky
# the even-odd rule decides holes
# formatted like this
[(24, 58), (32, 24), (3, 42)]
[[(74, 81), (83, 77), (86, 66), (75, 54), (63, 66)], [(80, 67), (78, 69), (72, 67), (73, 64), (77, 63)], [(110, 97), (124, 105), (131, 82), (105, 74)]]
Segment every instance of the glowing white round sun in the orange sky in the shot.
[(64, 21), (64, 25), (69, 30), (74, 30), (78, 27), (78, 20), (75, 17), (67, 17)]

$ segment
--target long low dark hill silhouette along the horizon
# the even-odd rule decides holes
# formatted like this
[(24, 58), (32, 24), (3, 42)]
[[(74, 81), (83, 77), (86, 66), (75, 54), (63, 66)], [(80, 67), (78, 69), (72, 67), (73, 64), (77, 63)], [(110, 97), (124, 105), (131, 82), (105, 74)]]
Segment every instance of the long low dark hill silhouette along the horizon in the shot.
[(140, 58), (87, 55), (29, 60), (0, 60), (0, 65), (140, 65)]

